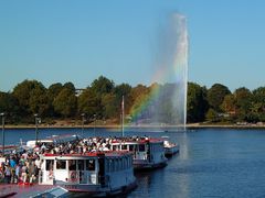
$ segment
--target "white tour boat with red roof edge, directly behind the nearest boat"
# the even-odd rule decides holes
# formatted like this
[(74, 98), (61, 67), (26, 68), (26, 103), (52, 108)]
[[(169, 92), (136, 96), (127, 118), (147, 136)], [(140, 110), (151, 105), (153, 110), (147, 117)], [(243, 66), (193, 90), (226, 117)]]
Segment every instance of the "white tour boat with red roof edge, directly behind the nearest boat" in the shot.
[(112, 141), (112, 151), (129, 151), (134, 153), (134, 168), (156, 168), (167, 165), (163, 140), (153, 138), (119, 138)]

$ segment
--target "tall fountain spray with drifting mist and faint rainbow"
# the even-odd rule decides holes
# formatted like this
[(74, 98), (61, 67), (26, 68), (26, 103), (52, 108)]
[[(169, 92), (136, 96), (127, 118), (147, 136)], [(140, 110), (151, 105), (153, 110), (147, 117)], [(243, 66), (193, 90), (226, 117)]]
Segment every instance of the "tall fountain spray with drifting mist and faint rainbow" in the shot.
[(159, 42), (151, 92), (137, 121), (186, 128), (189, 58), (186, 16), (171, 14)]

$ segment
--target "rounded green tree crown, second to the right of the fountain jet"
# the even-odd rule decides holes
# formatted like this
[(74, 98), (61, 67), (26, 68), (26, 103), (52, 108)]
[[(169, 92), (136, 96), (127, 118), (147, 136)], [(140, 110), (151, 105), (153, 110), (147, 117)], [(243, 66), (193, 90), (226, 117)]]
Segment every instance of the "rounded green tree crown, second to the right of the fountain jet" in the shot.
[(214, 84), (209, 90), (208, 90), (208, 102), (210, 107), (220, 112), (221, 111), (221, 105), (223, 102), (223, 99), (226, 95), (230, 95), (231, 91), (227, 87), (221, 85), (221, 84)]

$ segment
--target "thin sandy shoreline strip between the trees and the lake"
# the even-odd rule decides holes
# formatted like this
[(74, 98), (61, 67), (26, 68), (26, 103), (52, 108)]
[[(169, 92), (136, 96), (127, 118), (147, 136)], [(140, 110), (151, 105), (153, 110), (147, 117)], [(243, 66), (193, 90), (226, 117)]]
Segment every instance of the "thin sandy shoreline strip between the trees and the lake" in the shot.
[[(63, 125), (44, 125), (41, 124), (38, 127), (39, 129), (76, 129), (76, 128), (83, 128), (78, 124), (63, 124)], [(98, 124), (98, 125), (84, 125), (84, 129), (99, 129), (99, 128), (106, 128), (106, 129), (120, 129), (121, 127), (118, 124)], [(181, 129), (182, 125), (125, 125), (126, 129)], [(236, 125), (236, 124), (201, 124), (201, 123), (190, 123), (186, 125), (187, 129), (265, 129), (265, 124), (245, 124), (245, 125)], [(20, 124), (20, 125), (4, 125), (4, 129), (35, 129), (34, 124)]]

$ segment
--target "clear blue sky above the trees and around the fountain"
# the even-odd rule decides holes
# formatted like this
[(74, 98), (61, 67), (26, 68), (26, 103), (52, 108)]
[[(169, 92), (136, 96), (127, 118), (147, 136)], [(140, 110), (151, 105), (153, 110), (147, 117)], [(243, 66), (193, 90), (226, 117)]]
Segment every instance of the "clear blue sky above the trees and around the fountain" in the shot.
[[(265, 86), (264, 0), (0, 1), (0, 90), (24, 79), (150, 85), (172, 13), (187, 18), (189, 81)], [(168, 40), (168, 38), (167, 38)]]

